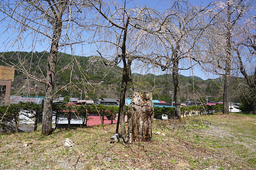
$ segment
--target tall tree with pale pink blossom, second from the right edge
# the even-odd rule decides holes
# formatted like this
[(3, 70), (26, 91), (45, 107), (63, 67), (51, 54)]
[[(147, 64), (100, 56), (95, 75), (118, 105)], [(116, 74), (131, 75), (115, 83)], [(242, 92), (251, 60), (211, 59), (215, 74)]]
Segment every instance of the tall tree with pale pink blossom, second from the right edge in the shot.
[(236, 52), (233, 50), (238, 36), (238, 22), (243, 18), (248, 10), (251, 1), (232, 0), (225, 2), (215, 2), (211, 9), (211, 28), (209, 37), (210, 53), (212, 56), (208, 71), (224, 76), (223, 87), (223, 113), (229, 113), (229, 88), (231, 81), (231, 71), (235, 67), (234, 58)]

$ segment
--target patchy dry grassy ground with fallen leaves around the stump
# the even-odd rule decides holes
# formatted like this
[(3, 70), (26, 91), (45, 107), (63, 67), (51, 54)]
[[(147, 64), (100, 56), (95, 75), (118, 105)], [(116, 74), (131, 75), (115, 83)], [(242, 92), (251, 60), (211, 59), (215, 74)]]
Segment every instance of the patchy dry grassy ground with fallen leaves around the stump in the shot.
[[(256, 115), (154, 121), (151, 143), (110, 143), (114, 132), (105, 125), (0, 135), (0, 169), (256, 169)], [(74, 147), (63, 146), (67, 137)]]

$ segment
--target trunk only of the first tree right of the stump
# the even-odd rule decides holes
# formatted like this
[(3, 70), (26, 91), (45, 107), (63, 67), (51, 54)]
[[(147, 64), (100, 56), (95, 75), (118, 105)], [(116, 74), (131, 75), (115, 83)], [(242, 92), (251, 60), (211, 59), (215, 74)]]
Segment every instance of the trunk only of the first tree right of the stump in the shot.
[(174, 116), (178, 116), (178, 118), (181, 119), (178, 66), (179, 66), (179, 61), (178, 59), (176, 59), (173, 61), (173, 85), (174, 85), (174, 101), (175, 101)]

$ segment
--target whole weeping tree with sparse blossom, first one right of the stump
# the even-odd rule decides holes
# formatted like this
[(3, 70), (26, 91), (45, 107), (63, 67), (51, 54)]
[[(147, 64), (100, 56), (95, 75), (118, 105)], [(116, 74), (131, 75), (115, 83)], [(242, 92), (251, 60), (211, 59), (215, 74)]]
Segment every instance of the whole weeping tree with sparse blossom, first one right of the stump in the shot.
[[(173, 1), (171, 7), (156, 18), (161, 25), (157, 32), (148, 30), (151, 42), (156, 42), (148, 51), (149, 56), (159, 61), (162, 71), (170, 70), (173, 75), (175, 115), (181, 118), (180, 111), (180, 70), (193, 68), (201, 61), (203, 39), (201, 36), (209, 24), (204, 22), (204, 12), (210, 6), (196, 7), (184, 1)], [(150, 60), (148, 60), (150, 61)], [(188, 62), (186, 62), (188, 61)], [(160, 65), (160, 63), (162, 65)]]

